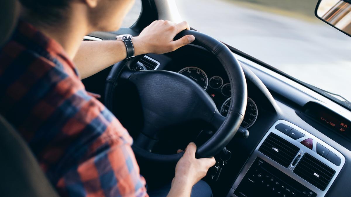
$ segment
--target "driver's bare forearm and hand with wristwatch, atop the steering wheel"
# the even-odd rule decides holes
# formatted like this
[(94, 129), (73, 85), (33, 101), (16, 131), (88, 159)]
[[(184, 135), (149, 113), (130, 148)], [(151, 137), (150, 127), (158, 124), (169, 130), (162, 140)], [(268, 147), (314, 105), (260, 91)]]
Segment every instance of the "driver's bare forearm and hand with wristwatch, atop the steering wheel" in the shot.
[[(192, 35), (173, 40), (179, 32), (189, 29), (186, 21), (154, 21), (139, 36), (132, 39), (135, 56), (147, 53), (163, 54), (174, 51), (195, 40)], [(81, 79), (89, 77), (114, 63), (126, 59), (127, 52), (121, 41), (85, 41), (82, 42), (74, 57), (74, 63)]]

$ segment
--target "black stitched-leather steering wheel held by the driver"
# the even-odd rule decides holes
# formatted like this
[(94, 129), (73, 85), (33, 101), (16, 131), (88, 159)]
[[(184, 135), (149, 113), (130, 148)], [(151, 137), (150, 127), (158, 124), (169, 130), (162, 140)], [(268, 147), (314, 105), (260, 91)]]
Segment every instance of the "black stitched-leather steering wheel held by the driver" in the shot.
[[(206, 91), (188, 77), (165, 70), (132, 71), (123, 69), (127, 61), (116, 63), (106, 79), (105, 106), (112, 110), (113, 92), (119, 79), (132, 82), (140, 96), (144, 127), (133, 150), (136, 155), (152, 161), (178, 161), (182, 154), (152, 153), (160, 131), (172, 125), (201, 120), (217, 129), (216, 133), (197, 149), (197, 157), (212, 157), (232, 140), (243, 121), (247, 87), (244, 72), (227, 46), (212, 37), (193, 30), (180, 32), (175, 39), (194, 35), (194, 45), (206, 48), (224, 67), (231, 86), (231, 103), (226, 117)], [(135, 63), (135, 62), (134, 62)]]

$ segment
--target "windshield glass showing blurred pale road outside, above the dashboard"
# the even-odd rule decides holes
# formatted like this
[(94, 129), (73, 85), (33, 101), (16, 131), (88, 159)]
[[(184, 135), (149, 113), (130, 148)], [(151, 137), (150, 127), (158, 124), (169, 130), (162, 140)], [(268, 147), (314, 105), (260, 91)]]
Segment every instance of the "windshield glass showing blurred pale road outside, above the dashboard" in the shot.
[(192, 28), (351, 101), (351, 38), (314, 16), (317, 0), (176, 2)]

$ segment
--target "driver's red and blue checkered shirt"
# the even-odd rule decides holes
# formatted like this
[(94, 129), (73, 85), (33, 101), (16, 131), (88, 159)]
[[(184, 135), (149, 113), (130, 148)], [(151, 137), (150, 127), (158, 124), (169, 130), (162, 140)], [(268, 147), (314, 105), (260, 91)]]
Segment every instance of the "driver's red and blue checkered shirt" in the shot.
[(147, 196), (127, 130), (59, 43), (25, 22), (0, 51), (0, 114), (61, 196)]

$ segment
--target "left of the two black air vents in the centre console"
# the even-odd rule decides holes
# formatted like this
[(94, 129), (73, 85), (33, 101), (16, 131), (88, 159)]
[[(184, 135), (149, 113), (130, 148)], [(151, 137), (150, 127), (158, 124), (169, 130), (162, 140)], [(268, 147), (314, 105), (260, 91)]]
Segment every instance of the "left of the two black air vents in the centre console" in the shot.
[(258, 150), (287, 168), (300, 149), (278, 135), (271, 133)]

